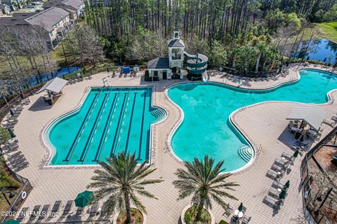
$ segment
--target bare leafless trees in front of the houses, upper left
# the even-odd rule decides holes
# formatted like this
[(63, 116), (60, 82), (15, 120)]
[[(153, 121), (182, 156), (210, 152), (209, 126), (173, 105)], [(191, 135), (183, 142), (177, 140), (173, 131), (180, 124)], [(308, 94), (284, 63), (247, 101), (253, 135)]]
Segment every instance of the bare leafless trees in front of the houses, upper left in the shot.
[[(44, 73), (53, 73), (59, 69), (59, 64), (52, 55), (45, 41), (45, 31), (42, 28), (10, 29), (4, 27), (0, 32), (0, 97), (20, 92), (28, 88), (32, 76), (37, 75), (37, 82), (42, 83)], [(77, 25), (62, 41), (62, 56), (67, 62), (65, 49), (70, 49), (72, 58), (83, 68), (86, 64), (95, 66), (104, 59), (104, 52), (95, 31), (87, 25)]]

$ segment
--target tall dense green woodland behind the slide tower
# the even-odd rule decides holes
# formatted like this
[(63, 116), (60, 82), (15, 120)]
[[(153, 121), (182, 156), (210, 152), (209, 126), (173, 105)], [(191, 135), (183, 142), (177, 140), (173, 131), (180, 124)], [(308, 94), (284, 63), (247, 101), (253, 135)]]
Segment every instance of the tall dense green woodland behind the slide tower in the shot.
[(307, 21), (334, 5), (336, 0), (87, 0), (86, 21), (100, 34), (107, 57), (119, 63), (166, 56), (165, 41), (178, 27), (186, 50), (208, 54), (211, 66), (270, 71), (282, 64), (284, 46), (308, 31)]

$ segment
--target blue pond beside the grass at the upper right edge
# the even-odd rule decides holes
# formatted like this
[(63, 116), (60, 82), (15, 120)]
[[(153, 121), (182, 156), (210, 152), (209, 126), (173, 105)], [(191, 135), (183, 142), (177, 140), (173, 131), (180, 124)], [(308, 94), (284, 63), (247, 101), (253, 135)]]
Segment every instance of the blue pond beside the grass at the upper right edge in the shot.
[[(305, 52), (307, 48), (308, 51)], [(335, 64), (337, 60), (337, 43), (323, 38), (315, 41), (302, 41), (298, 44), (297, 52), (294, 52), (292, 56), (296, 58), (304, 56), (304, 59)]]

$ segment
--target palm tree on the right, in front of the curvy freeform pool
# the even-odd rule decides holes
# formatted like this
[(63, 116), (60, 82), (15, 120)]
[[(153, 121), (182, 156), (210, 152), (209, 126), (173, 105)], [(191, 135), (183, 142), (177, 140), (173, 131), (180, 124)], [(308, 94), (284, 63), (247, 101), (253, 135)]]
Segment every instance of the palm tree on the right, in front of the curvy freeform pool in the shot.
[(178, 200), (192, 195), (191, 204), (197, 207), (195, 221), (201, 220), (203, 207), (212, 208), (212, 200), (223, 209), (227, 208), (223, 197), (237, 200), (226, 190), (234, 190), (232, 187), (239, 186), (239, 184), (225, 181), (231, 174), (221, 174), (224, 172), (224, 169), (221, 169), (223, 163), (221, 161), (214, 165), (214, 159), (205, 155), (204, 161), (194, 158), (192, 163), (184, 162), (187, 170), (178, 169), (176, 172), (178, 180), (173, 181), (173, 185), (179, 190)]

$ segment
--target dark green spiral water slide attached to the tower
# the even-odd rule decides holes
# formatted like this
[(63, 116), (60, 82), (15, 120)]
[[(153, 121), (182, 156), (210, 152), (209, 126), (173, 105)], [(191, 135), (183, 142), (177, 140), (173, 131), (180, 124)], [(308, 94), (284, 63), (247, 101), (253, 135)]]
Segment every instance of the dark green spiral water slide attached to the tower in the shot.
[(184, 52), (184, 55), (187, 59), (187, 71), (191, 75), (202, 75), (207, 69), (207, 62), (209, 57), (197, 53), (197, 55), (191, 55), (187, 52)]

